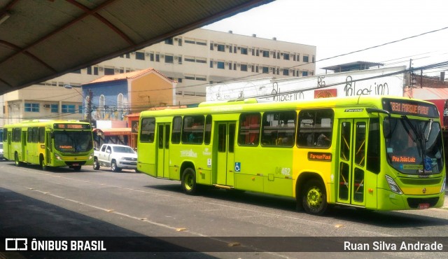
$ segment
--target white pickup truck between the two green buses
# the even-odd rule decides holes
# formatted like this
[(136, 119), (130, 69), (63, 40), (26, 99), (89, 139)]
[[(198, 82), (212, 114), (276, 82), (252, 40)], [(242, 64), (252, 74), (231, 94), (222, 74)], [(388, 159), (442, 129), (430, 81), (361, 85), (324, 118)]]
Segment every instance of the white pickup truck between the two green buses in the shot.
[(94, 151), (93, 169), (111, 167), (113, 172), (121, 169), (134, 169), (137, 172), (137, 153), (130, 146), (103, 144), (99, 151)]

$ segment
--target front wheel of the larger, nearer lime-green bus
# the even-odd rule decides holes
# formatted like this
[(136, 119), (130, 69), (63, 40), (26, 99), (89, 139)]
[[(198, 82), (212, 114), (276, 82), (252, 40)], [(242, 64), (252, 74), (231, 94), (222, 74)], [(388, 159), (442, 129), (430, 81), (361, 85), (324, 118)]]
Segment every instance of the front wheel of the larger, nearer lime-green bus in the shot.
[(325, 186), (318, 179), (310, 179), (302, 191), (302, 206), (308, 214), (322, 215), (327, 210)]

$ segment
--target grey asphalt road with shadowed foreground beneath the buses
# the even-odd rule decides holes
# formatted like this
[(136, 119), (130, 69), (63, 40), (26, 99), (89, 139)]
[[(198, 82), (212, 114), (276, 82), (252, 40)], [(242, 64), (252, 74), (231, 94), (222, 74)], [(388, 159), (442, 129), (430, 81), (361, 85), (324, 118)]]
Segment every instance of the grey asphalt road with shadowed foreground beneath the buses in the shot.
[[(371, 237), (379, 244), (435, 241), (448, 251), (447, 232), (447, 209), (335, 208), (318, 217), (297, 213), (293, 200), (257, 193), (211, 188), (185, 195), (178, 181), (130, 170), (43, 172), (0, 162), (0, 237), (90, 237), (105, 240), (108, 248), (97, 253), (2, 252), (0, 258), (322, 258), (328, 257), (325, 251), (343, 251), (344, 241), (371, 245)], [(116, 250), (128, 253), (111, 252)], [(447, 255), (386, 250), (332, 253), (332, 258)]]

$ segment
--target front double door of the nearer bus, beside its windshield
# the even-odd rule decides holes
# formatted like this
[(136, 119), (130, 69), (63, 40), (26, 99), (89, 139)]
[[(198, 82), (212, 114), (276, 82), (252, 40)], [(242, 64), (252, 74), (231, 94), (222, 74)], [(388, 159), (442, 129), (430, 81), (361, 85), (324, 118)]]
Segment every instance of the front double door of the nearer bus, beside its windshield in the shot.
[(367, 119), (339, 121), (337, 202), (365, 207)]

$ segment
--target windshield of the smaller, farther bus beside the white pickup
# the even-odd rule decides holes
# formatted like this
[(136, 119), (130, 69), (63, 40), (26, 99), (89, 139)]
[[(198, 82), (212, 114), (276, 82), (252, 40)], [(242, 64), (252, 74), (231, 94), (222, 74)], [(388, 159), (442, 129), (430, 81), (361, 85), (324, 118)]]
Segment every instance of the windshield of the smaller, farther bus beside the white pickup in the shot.
[(92, 149), (92, 132), (55, 130), (55, 148), (66, 153), (87, 152)]

